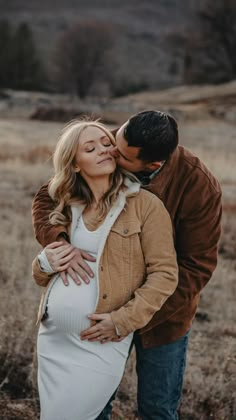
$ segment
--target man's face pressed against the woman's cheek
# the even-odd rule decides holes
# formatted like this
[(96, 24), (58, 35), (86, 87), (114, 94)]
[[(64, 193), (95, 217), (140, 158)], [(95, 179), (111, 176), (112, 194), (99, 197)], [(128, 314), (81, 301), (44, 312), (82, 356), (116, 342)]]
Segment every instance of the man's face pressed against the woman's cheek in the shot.
[(127, 123), (122, 125), (116, 133), (116, 149), (111, 152), (116, 157), (117, 164), (130, 172), (148, 171), (146, 162), (138, 159), (140, 147), (129, 147), (124, 138), (124, 128)]

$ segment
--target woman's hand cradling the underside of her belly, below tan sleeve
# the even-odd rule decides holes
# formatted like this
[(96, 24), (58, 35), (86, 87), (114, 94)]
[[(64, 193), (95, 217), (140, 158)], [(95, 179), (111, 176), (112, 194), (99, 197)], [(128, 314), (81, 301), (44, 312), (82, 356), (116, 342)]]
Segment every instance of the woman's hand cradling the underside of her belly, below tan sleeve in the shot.
[(80, 334), (81, 340), (100, 341), (101, 343), (121, 341), (121, 338), (116, 334), (116, 328), (110, 314), (92, 314), (88, 315), (88, 318), (96, 324), (82, 331)]

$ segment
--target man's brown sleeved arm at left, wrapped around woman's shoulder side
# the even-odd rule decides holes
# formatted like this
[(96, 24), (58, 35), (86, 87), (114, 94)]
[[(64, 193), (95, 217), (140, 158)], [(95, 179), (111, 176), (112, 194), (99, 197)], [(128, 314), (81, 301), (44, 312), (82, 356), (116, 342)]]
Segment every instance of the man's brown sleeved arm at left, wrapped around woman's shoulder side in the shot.
[[(55, 203), (48, 193), (48, 183), (44, 184), (34, 197), (32, 205), (32, 219), (35, 237), (45, 247), (46, 245), (61, 240), (60, 234), (66, 239), (66, 228), (61, 225), (52, 225), (49, 222), (49, 215), (54, 210)], [(67, 235), (67, 242), (68, 242)]]

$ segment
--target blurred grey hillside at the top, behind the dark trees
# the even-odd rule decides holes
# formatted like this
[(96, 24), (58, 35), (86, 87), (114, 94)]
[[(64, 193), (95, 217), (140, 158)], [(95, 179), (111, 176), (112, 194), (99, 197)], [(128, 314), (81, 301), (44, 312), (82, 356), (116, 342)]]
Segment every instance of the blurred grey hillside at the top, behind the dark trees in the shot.
[[(116, 45), (114, 77), (123, 83), (165, 88), (181, 83), (184, 49), (181, 33), (188, 31), (188, 0), (0, 0), (0, 17), (16, 26), (30, 24), (48, 66), (63, 31), (78, 21), (111, 23)], [(179, 41), (173, 45), (173, 34)]]

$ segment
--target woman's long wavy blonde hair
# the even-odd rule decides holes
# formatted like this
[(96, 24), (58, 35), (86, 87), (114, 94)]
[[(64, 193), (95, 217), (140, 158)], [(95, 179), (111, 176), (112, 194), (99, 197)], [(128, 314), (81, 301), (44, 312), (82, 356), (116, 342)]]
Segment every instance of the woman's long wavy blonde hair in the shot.
[[(71, 204), (77, 202), (89, 207), (94, 200), (93, 193), (86, 181), (80, 173), (75, 172), (75, 156), (79, 137), (87, 127), (96, 127), (102, 130), (115, 146), (115, 138), (112, 133), (98, 120), (76, 119), (65, 126), (53, 155), (54, 176), (48, 188), (50, 197), (56, 203), (54, 211), (49, 216), (50, 223), (53, 225), (67, 226), (71, 222), (69, 211)], [(110, 175), (110, 187), (99, 202), (96, 224), (104, 219), (119, 191), (126, 188), (125, 177), (137, 181), (133, 174), (119, 167)]]

